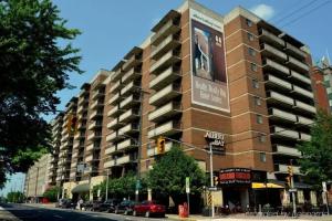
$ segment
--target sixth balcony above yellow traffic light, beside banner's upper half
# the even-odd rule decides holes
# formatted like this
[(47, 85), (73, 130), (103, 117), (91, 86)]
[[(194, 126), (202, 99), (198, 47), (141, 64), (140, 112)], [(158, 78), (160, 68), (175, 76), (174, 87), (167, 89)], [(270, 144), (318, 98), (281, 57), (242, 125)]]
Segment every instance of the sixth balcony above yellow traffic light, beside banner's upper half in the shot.
[(173, 50), (180, 45), (179, 35), (172, 34), (168, 35), (163, 42), (160, 42), (157, 46), (152, 45), (151, 59), (158, 60), (169, 50)]

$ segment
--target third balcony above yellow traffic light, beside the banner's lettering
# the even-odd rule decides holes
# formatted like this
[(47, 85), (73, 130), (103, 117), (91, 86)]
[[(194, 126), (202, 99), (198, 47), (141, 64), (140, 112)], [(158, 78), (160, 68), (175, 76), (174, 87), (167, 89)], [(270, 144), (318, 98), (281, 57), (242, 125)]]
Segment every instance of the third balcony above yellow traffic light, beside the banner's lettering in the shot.
[(165, 104), (166, 102), (179, 96), (181, 94), (180, 85), (169, 84), (165, 88), (156, 92), (148, 99), (148, 103), (154, 106)]

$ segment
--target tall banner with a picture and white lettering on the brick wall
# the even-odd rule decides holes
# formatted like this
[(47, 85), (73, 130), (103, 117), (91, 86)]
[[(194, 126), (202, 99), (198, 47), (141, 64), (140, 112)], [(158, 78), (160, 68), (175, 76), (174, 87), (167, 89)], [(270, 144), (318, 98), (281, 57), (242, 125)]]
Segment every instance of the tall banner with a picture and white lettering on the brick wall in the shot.
[(190, 9), (191, 102), (229, 112), (224, 25)]

